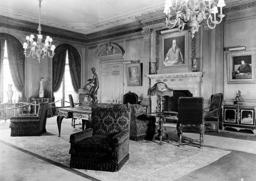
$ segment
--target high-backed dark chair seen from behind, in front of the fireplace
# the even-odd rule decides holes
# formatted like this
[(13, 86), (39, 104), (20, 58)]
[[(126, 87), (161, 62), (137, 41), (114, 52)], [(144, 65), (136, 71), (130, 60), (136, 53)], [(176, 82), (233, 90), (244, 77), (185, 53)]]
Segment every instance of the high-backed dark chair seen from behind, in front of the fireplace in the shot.
[(197, 141), (190, 139), (188, 143), (181, 143), (182, 128), (185, 126), (198, 126), (200, 133), (199, 147), (202, 148), (205, 130), (203, 103), (203, 97), (180, 97), (178, 99), (177, 134), (180, 146), (182, 144), (195, 144), (195, 141)]

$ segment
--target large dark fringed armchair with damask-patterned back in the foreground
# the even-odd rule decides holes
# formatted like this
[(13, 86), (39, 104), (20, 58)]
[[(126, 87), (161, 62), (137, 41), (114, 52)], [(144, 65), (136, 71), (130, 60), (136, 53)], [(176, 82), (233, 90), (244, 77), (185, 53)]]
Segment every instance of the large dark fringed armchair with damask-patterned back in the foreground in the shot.
[(129, 160), (131, 109), (92, 108), (91, 128), (70, 135), (70, 167), (118, 171)]

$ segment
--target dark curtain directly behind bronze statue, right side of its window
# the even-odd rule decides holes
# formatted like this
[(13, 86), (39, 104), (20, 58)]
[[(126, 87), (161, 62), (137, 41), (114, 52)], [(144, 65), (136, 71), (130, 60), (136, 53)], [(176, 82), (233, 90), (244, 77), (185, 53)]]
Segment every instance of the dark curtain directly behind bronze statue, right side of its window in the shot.
[(76, 93), (81, 87), (81, 58), (75, 47), (69, 46), (69, 69), (73, 88)]

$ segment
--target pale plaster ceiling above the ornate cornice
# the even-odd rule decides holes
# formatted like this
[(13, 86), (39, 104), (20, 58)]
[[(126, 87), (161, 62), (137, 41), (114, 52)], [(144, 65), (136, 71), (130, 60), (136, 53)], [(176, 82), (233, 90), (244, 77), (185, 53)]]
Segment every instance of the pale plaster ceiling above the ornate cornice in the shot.
[[(225, 0), (227, 6), (248, 1), (251, 0)], [(89, 35), (138, 22), (151, 14), (164, 17), (164, 3), (165, 0), (42, 0), (41, 24)], [(39, 2), (1, 0), (0, 15), (38, 23)]]

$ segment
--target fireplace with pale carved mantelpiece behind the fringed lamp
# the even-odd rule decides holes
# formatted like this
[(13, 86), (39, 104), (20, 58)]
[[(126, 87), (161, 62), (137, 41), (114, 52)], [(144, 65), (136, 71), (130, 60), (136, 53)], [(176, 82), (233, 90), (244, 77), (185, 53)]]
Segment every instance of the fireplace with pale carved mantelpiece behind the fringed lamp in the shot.
[[(165, 83), (174, 90), (173, 97), (164, 96), (163, 111), (178, 111), (179, 97), (201, 97), (202, 72), (166, 73), (146, 75), (151, 79), (151, 87), (158, 82)], [(170, 102), (169, 102), (170, 100)], [(151, 112), (158, 112), (160, 109), (159, 96), (151, 96)]]

